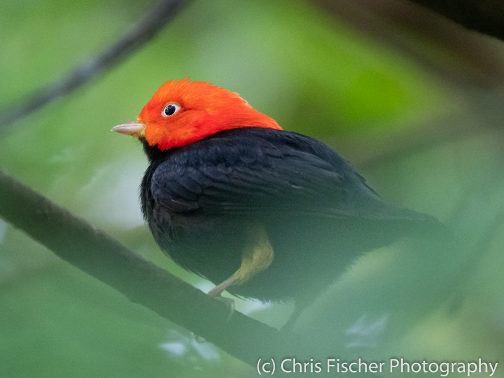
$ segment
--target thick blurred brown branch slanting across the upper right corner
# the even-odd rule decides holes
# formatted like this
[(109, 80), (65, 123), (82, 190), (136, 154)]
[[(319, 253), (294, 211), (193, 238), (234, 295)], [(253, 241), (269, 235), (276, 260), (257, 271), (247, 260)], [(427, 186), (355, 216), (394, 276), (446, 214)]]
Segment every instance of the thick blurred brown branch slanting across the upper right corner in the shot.
[[(457, 1), (460, 4), (469, 0)], [(478, 0), (475, 0), (478, 1)], [(500, 0), (499, 0), (500, 1)], [(466, 86), (504, 83), (501, 41), (468, 31), (460, 24), (405, 0), (311, 0), (326, 13), (365, 33), (375, 41), (410, 57), (439, 80)], [(420, 3), (418, 1), (417, 3)], [(453, 3), (440, 1), (440, 4)], [(436, 3), (436, 4), (438, 4)], [(504, 2), (502, 2), (504, 7)], [(504, 17), (488, 15), (504, 25)], [(500, 20), (500, 21), (499, 21)], [(418, 40), (424, 43), (418, 43)], [(429, 48), (425, 49), (425, 43)], [(435, 54), (436, 46), (443, 51)]]

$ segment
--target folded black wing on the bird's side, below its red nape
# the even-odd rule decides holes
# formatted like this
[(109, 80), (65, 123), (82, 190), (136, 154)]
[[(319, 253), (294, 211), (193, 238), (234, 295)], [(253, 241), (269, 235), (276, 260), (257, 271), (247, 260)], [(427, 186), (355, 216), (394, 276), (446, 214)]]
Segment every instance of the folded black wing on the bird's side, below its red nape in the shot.
[(176, 150), (155, 170), (151, 193), (170, 213), (405, 217), (329, 147), (267, 129), (223, 132)]

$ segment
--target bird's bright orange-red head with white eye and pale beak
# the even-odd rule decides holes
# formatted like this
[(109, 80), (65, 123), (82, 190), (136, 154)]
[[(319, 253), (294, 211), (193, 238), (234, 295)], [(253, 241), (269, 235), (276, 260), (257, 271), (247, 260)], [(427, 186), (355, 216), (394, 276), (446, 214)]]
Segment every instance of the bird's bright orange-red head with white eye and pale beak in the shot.
[(184, 79), (164, 83), (145, 105), (138, 122), (120, 124), (112, 130), (145, 137), (150, 146), (164, 151), (220, 131), (251, 127), (281, 129), (238, 93)]

